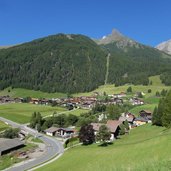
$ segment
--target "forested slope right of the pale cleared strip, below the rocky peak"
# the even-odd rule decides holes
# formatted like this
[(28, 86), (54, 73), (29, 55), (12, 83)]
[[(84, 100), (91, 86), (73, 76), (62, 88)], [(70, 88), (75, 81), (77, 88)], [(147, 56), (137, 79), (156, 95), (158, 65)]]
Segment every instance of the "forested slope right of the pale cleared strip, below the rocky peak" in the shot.
[[(170, 71), (169, 55), (163, 58), (164, 54), (154, 48), (124, 41), (101, 45), (111, 53), (108, 83), (115, 83), (116, 86), (125, 83), (148, 85), (149, 76)], [(164, 76), (162, 78), (166, 83)]]

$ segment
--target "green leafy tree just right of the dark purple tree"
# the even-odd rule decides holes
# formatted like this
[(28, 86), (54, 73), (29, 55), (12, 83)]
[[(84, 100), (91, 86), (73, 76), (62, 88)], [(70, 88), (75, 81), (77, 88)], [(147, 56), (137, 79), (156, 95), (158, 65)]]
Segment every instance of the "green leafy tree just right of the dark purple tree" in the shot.
[(106, 142), (110, 140), (110, 137), (111, 133), (108, 127), (106, 125), (101, 125), (96, 135), (96, 140), (103, 142), (103, 144), (106, 144)]

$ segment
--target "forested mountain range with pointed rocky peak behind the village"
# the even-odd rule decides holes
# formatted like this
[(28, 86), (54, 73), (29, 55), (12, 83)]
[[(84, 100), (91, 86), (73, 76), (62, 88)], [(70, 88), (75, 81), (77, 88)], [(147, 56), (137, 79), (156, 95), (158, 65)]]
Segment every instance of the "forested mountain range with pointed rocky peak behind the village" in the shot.
[(170, 55), (116, 30), (95, 41), (79, 34), (57, 34), (1, 49), (0, 89), (77, 93), (108, 83), (148, 85), (153, 75), (171, 85), (170, 66)]

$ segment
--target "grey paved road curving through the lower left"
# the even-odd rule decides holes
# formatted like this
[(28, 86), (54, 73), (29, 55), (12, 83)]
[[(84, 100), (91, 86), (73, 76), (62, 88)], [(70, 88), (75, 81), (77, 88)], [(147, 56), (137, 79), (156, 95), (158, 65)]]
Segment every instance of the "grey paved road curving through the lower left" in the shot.
[(60, 143), (58, 140), (53, 139), (51, 137), (48, 137), (46, 135), (37, 133), (36, 130), (33, 130), (25, 125), (20, 125), (18, 123), (15, 123), (13, 121), (10, 121), (8, 119), (0, 117), (0, 120), (3, 122), (8, 123), (12, 127), (20, 128), (24, 131), (27, 131), (29, 134), (33, 136), (37, 136), (39, 139), (41, 139), (46, 144), (46, 152), (43, 153), (39, 158), (28, 160), (23, 162), (22, 164), (14, 165), (13, 167), (10, 167), (6, 169), (5, 171), (24, 171), (31, 169), (34, 166), (40, 165), (46, 161), (49, 161), (53, 157), (55, 157), (57, 154), (62, 154), (64, 152), (64, 148), (62, 143)]

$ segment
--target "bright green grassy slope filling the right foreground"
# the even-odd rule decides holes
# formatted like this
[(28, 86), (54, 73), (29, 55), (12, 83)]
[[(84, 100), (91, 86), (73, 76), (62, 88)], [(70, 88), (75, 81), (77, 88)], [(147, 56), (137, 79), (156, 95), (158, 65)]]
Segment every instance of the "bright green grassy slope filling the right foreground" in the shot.
[(131, 130), (113, 145), (69, 149), (59, 160), (37, 171), (169, 171), (171, 130), (149, 124)]

